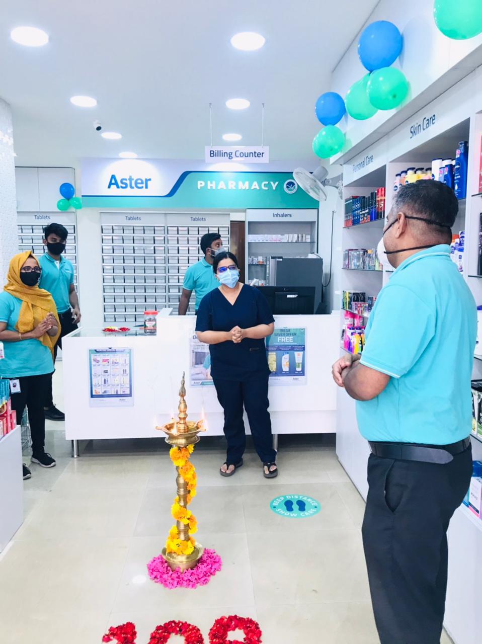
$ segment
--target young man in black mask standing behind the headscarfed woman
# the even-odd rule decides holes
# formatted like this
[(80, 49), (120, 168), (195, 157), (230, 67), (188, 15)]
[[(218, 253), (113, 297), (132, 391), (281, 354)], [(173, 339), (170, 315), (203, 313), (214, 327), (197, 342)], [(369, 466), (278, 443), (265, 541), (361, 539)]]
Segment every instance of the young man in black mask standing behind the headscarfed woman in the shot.
[[(61, 323), (61, 334), (53, 348), (53, 360), (57, 350), (62, 348), (62, 338), (77, 328), (81, 320), (79, 298), (73, 285), (72, 261), (62, 256), (67, 242), (68, 231), (61, 223), (50, 223), (44, 229), (44, 246), (47, 252), (39, 258), (42, 269), (39, 287), (52, 294)], [(70, 308), (72, 307), (72, 309)], [(53, 404), (52, 374), (46, 387), (44, 403), (45, 417), (51, 421), (64, 421), (65, 415)]]

